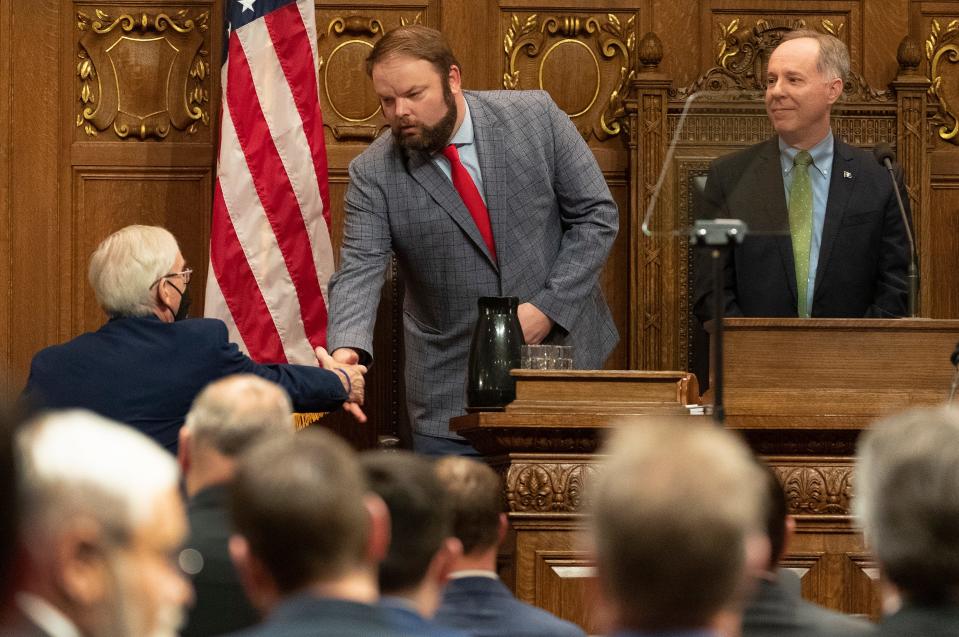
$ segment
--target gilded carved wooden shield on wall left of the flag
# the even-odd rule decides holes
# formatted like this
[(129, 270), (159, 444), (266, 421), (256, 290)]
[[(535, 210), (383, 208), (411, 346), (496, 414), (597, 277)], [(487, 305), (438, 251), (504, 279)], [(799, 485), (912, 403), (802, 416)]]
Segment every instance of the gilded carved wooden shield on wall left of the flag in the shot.
[(210, 124), (209, 12), (79, 11), (76, 124), (96, 137), (163, 139)]

